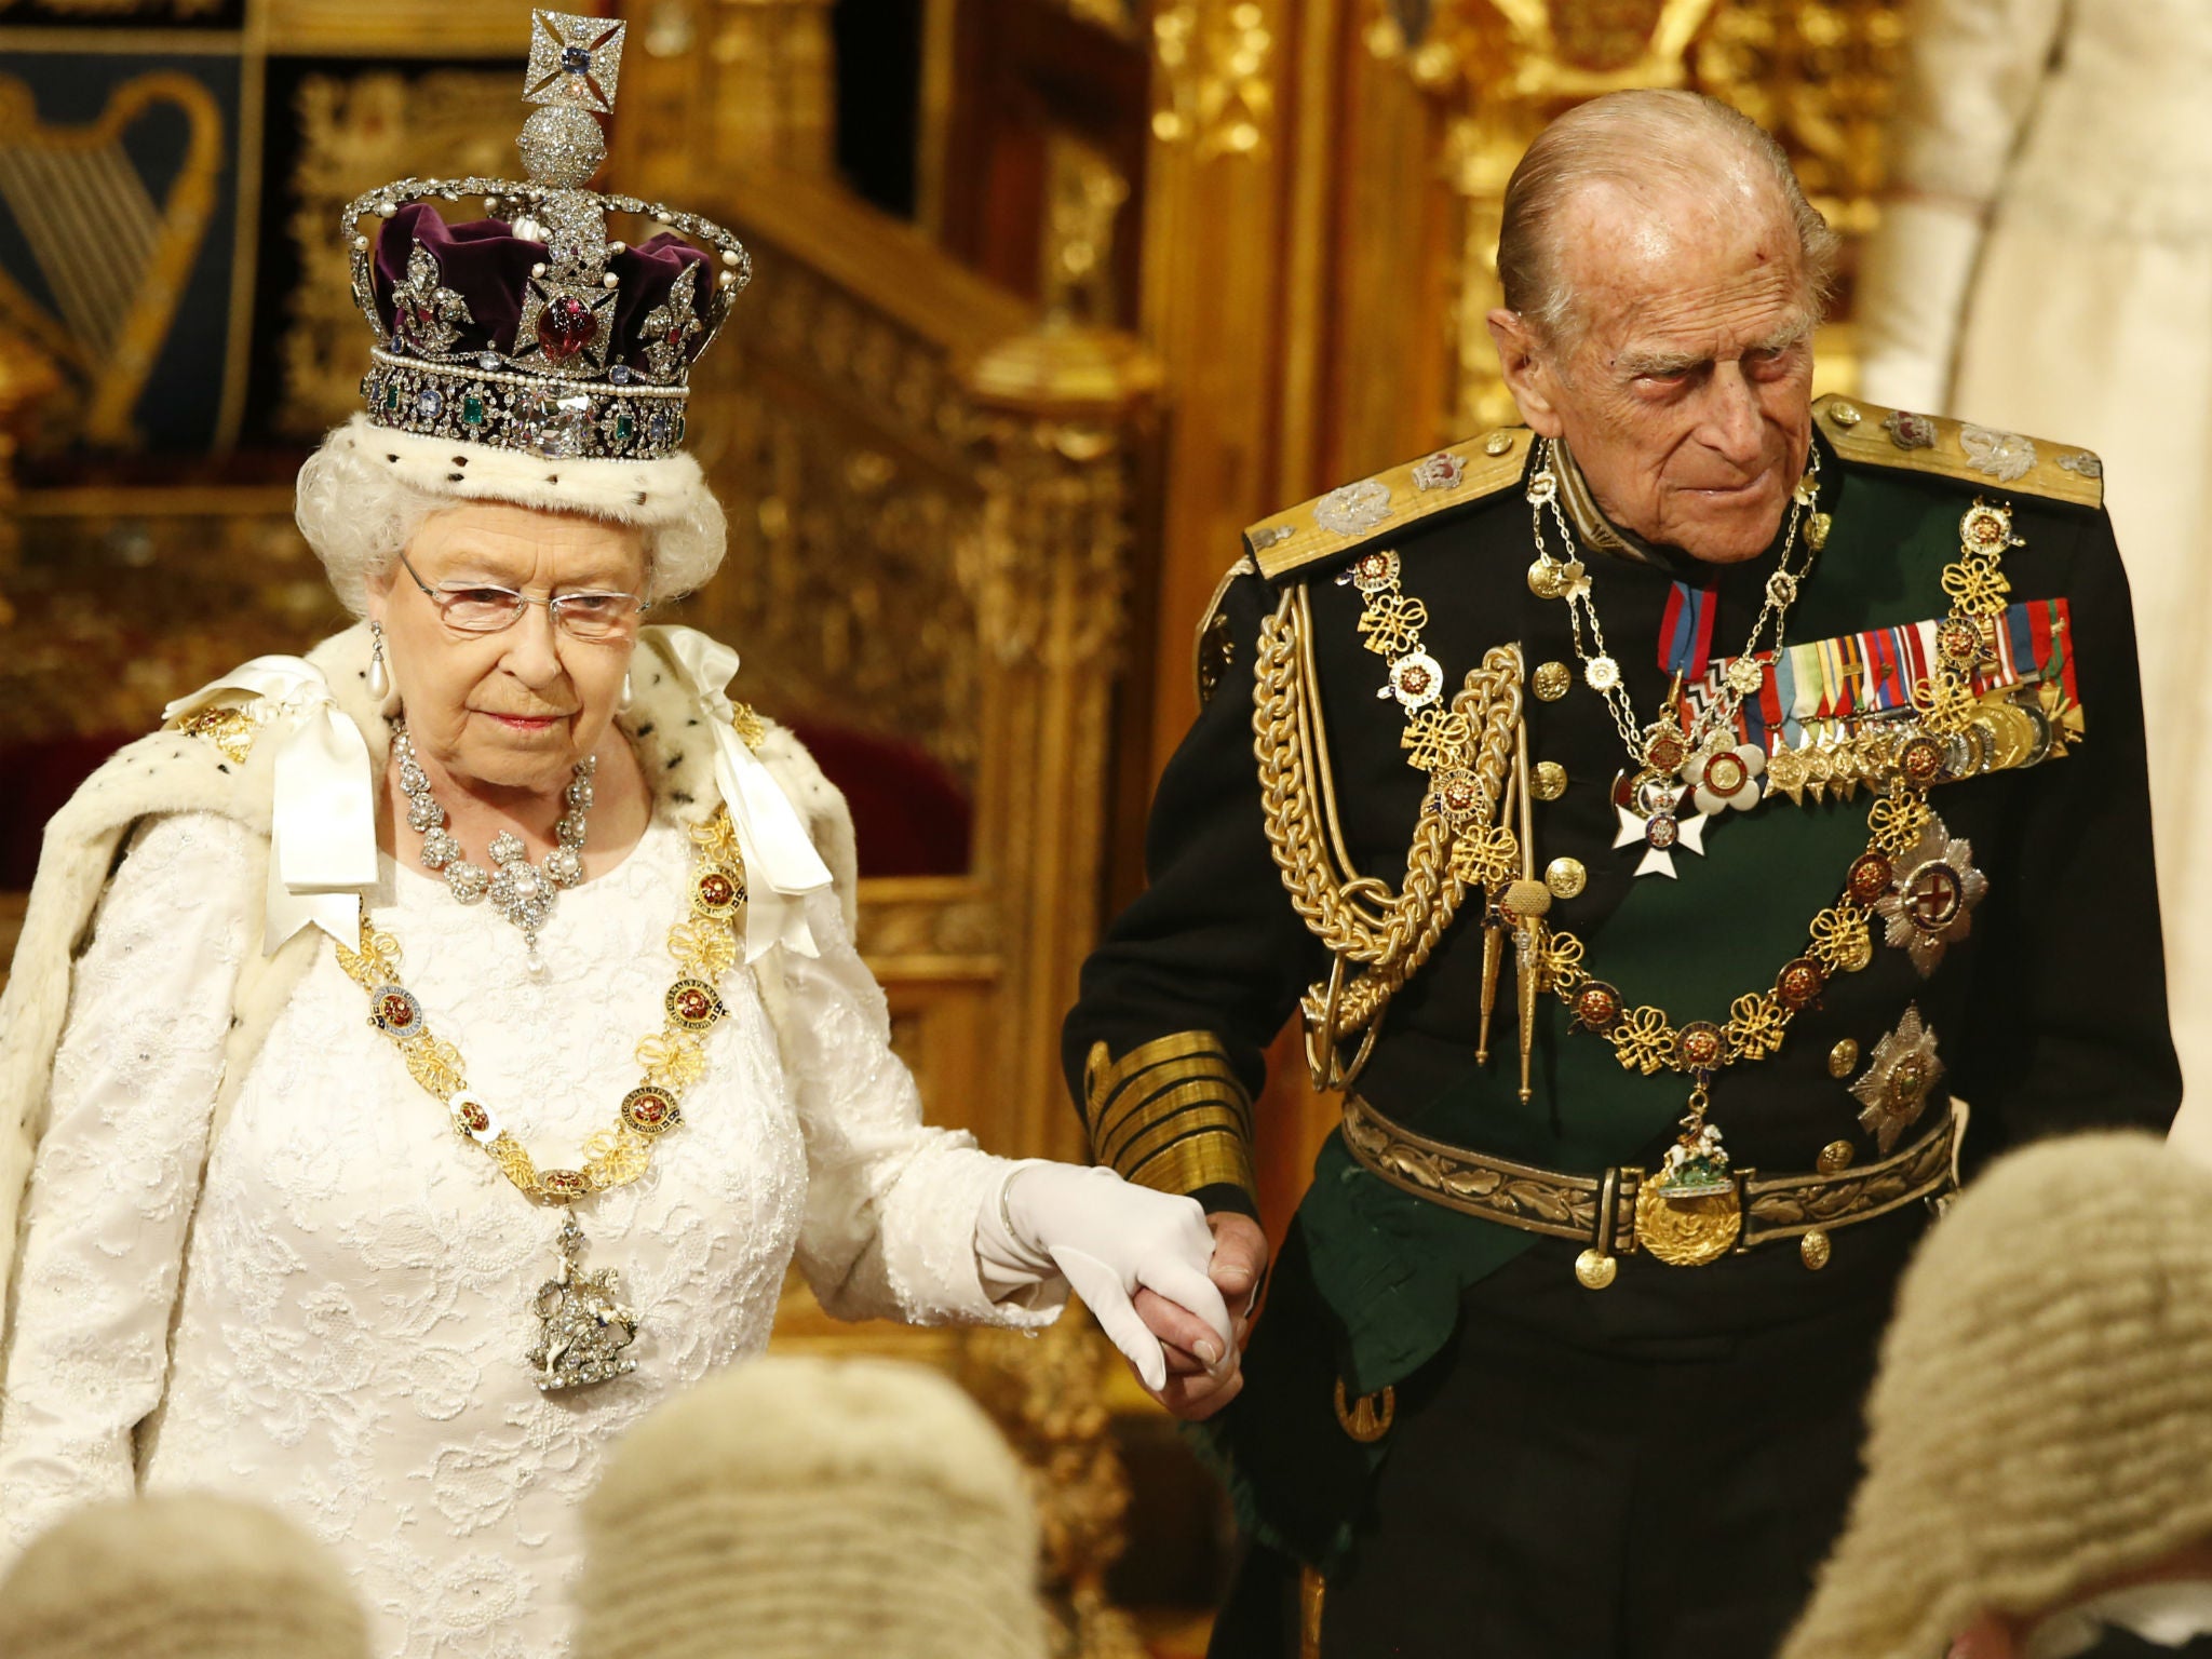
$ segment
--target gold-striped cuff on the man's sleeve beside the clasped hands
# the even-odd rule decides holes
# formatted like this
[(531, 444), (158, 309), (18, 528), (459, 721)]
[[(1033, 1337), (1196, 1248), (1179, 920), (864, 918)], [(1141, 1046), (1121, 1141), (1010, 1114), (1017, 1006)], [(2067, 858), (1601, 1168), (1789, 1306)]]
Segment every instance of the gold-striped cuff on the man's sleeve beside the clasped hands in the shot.
[(1252, 1097), (1212, 1031), (1177, 1031), (1119, 1060), (1104, 1042), (1084, 1064), (1091, 1157), (1159, 1192), (1256, 1190)]

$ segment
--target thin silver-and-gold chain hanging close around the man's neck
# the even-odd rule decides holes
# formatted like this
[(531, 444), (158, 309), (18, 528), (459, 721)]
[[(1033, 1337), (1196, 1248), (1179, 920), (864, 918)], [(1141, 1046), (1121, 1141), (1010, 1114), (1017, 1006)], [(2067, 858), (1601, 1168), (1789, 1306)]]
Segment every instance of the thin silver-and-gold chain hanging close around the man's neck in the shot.
[[(1820, 451), (1812, 449), (1805, 460), (1805, 476), (1798, 478), (1796, 489), (1790, 491), (1790, 529), (1783, 538), (1781, 564), (1767, 577), (1765, 602), (1752, 619), (1752, 637), (1743, 644), (1743, 650), (1736, 653), (1736, 659), (1728, 664), (1719, 697), (1699, 710), (1688, 732), (1681, 728), (1672, 699), (1663, 710), (1659, 710), (1659, 719), (1650, 726), (1639, 726), (1635, 703), (1628, 699), (1628, 688), (1621, 684), (1621, 666), (1606, 650), (1606, 630), (1599, 626), (1597, 606), (1590, 602), (1588, 566), (1575, 553), (1575, 533), (1568, 529), (1566, 513), (1559, 507), (1559, 476), (1553, 471), (1553, 445), (1548, 438), (1537, 442), (1537, 469), (1528, 478), (1528, 509), (1535, 524), (1535, 564), (1528, 566), (1528, 591), (1540, 599), (1566, 599), (1568, 626), (1575, 637), (1575, 657), (1582, 661), (1582, 679), (1590, 690), (1604, 697), (1606, 706), (1613, 710), (1613, 723), (1619, 728), (1621, 743), (1628, 745), (1628, 759), (1639, 768), (1639, 785), (1648, 781), (1674, 781), (1679, 785), (1681, 770), (1688, 765), (1690, 757), (1721, 732), (1734, 732), (1736, 710), (1743, 706), (1743, 699), (1765, 684), (1765, 664), (1759, 659), (1759, 641), (1765, 637), (1767, 622), (1772, 619), (1774, 644), (1781, 646), (1783, 619), (1790, 615), (1790, 606), (1796, 602), (1798, 588), (1812, 571), (1814, 557), (1827, 544), (1829, 518), (1827, 513), (1814, 513), (1803, 526), (1807, 549), (1805, 564), (1796, 571), (1790, 568), (1790, 555), (1796, 553), (1798, 544), (1798, 524), (1805, 520), (1805, 509), (1818, 500), (1818, 493)], [(1566, 549), (1566, 557), (1553, 557), (1551, 546), (1544, 542), (1546, 507), (1551, 509), (1553, 522), (1559, 526), (1559, 542)], [(1584, 626), (1590, 630), (1595, 653), (1582, 644)], [(1641, 805), (1644, 792), (1632, 790), (1630, 794)]]

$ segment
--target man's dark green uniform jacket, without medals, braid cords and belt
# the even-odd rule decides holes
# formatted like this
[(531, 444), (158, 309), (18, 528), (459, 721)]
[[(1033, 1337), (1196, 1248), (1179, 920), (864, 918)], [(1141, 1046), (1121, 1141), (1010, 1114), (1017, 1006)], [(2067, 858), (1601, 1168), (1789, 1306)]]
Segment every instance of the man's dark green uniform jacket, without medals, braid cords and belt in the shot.
[[(2090, 1126), (2163, 1128), (2181, 1095), (2168, 1035), (2143, 717), (2128, 582), (2101, 509), (2097, 462), (2055, 445), (2011, 438), (1980, 447), (1953, 422), (1889, 420), (1887, 411), (1823, 400), (1816, 411), (1818, 507), (1832, 531), (1787, 613), (1785, 644), (1849, 641), (1867, 630), (1940, 619), (1942, 573), (1960, 557), (1960, 520), (1975, 500), (2006, 504), (2017, 546), (2004, 553), (2011, 602), (2064, 602), (2057, 641), (2020, 622), (2022, 655), (2046, 659), (2079, 697), (2079, 741), (2064, 757), (1940, 783), (1931, 807), (1971, 843), (1989, 894), (1971, 936), (1929, 978), (1882, 942), (1874, 962), (1829, 980), (1778, 1055), (1723, 1071), (1712, 1121), (1739, 1168), (1809, 1172), (1825, 1146), (1876, 1144), (1849, 1084), (1907, 1009), (1936, 1033), (1942, 1093), (1971, 1102), (1964, 1172), (2033, 1135)], [(1913, 445), (1913, 447), (1907, 447)], [(1867, 847), (1874, 794), (1801, 803), (1770, 792), (1750, 812), (1710, 821), (1703, 856), (1677, 852), (1679, 876), (1637, 878), (1639, 849), (1615, 849), (1613, 787), (1628, 765), (1604, 699), (1584, 684), (1568, 637), (1568, 606), (1540, 599), (1524, 476), (1526, 431), (1460, 445), (1420, 487), (1413, 469), (1385, 473), (1352, 509), (1387, 507), (1380, 522), (1343, 526), (1338, 511), (1292, 509), (1248, 535), (1248, 555), (1210, 619), (1210, 699), (1170, 761), (1155, 799), (1150, 889), (1121, 914), (1082, 975), (1066, 1022), (1066, 1068), (1086, 1104), (1095, 1150), (1124, 1175), (1197, 1192), (1208, 1208), (1250, 1208), (1241, 1146), (1263, 1051), (1307, 987), (1327, 980), (1329, 953), (1292, 909), (1263, 830), (1254, 770), (1254, 644), (1283, 584), (1312, 597), (1314, 661), (1327, 717), (1329, 765), (1352, 865), (1396, 885), (1427, 792), (1400, 748), (1405, 710), (1378, 697), (1385, 659), (1360, 633), (1363, 595), (1336, 577), (1363, 551), (1400, 555), (1400, 582), (1427, 606), (1422, 644), (1447, 686), (1484, 650), (1517, 641), (1535, 675), (1564, 664), (1564, 697), (1526, 703), (1531, 759), (1564, 768), (1564, 792), (1533, 807), (1535, 869), (1573, 858), (1586, 887), (1557, 898), (1551, 922), (1588, 947), (1586, 969), (1628, 1004), (1663, 1006), (1677, 1024), (1725, 1022), (1734, 998), (1774, 984), (1803, 956), (1807, 925), (1836, 902)], [(1458, 476), (1455, 484), (1438, 484)], [(1546, 524), (1557, 551), (1557, 531)], [(1710, 615), (1710, 650), (1743, 648), (1776, 549), (1739, 566), (1703, 566), (1584, 551), (1593, 599), (1639, 719), (1666, 699), (1663, 648)], [(1803, 553), (1798, 555), (1803, 557)], [(1683, 622), (1686, 608), (1692, 622)], [(2033, 606), (2031, 606), (2033, 608)], [(1767, 641), (1772, 644), (1772, 641)], [(1838, 661), (1851, 653), (1838, 646)], [(1358, 1093), (1398, 1124), (1546, 1170), (1595, 1175), (1659, 1164), (1683, 1113), (1677, 1073), (1624, 1071), (1613, 1046), (1571, 1031), (1544, 998), (1535, 1033), (1535, 1097), (1517, 1097), (1511, 971), (1493, 1057), (1475, 1064), (1482, 975), (1480, 898), (1471, 898), (1429, 964), (1396, 995)], [(1856, 1044), (1851, 1048), (1838, 1044)], [(1845, 1062), (1851, 1064), (1845, 1064)], [(1840, 1075), (1836, 1075), (1840, 1073)], [(1360, 1168), (1332, 1137), (1314, 1170), (1270, 1303), (1245, 1358), (1245, 1396), (1210, 1431), (1232, 1464), (1245, 1520), (1307, 1562), (1345, 1540), (1387, 1440), (1367, 1449), (1336, 1427), (1332, 1391), (1371, 1394), (1440, 1354), (1462, 1298), (1524, 1252), (1555, 1256), (1568, 1296), (1597, 1329), (1723, 1329), (1790, 1321), (1849, 1294), (1887, 1294), (1911, 1237), (1911, 1217), (1834, 1234), (1834, 1261), (1809, 1272), (1787, 1243), (1708, 1267), (1626, 1256), (1617, 1283), (1573, 1283), (1575, 1245), (1458, 1214)], [(1863, 1241), (1863, 1234), (1867, 1241)], [(1871, 1237), (1882, 1234), (1882, 1243)]]

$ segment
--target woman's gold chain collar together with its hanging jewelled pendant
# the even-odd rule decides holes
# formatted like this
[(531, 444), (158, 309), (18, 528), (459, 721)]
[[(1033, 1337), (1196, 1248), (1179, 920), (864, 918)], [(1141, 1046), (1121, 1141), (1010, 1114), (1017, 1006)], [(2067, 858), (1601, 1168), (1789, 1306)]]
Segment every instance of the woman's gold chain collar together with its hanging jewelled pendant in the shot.
[[(681, 1126), (681, 1097), (706, 1075), (703, 1035), (728, 1013), (717, 982), (737, 964), (745, 918), (745, 858), (728, 807), (690, 827), (692, 872), (686, 920), (668, 933), (677, 978), (661, 998), (661, 1029), (637, 1044), (641, 1082), (622, 1097), (615, 1121), (584, 1141), (573, 1168), (542, 1168), (509, 1133), (491, 1106), (469, 1088), (460, 1048), (429, 1029), (422, 1004), (400, 982), (400, 947), (361, 914), (358, 949), (338, 947), (338, 964), (369, 998), (369, 1024), (392, 1037), (407, 1073), (445, 1106), (453, 1133), (484, 1150), (522, 1197), (568, 1208), (597, 1192), (637, 1181), (653, 1166), (653, 1148)], [(622, 1303), (611, 1267), (584, 1272), (584, 1232), (562, 1217), (560, 1267), (535, 1294), (538, 1340), (526, 1354), (546, 1394), (606, 1383), (637, 1369), (624, 1354), (637, 1336), (637, 1316)]]

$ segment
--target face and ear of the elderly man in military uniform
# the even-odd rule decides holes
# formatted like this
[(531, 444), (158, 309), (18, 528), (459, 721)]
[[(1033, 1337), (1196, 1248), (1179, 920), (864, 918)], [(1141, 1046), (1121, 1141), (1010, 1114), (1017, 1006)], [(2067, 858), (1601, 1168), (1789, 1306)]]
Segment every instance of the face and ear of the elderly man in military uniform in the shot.
[(1714, 212), (1586, 190), (1562, 239), (1579, 334), (1562, 352), (1491, 314), (1522, 418), (1566, 438), (1606, 515), (1714, 564), (1767, 549), (1812, 447), (1816, 314), (1770, 197)]

